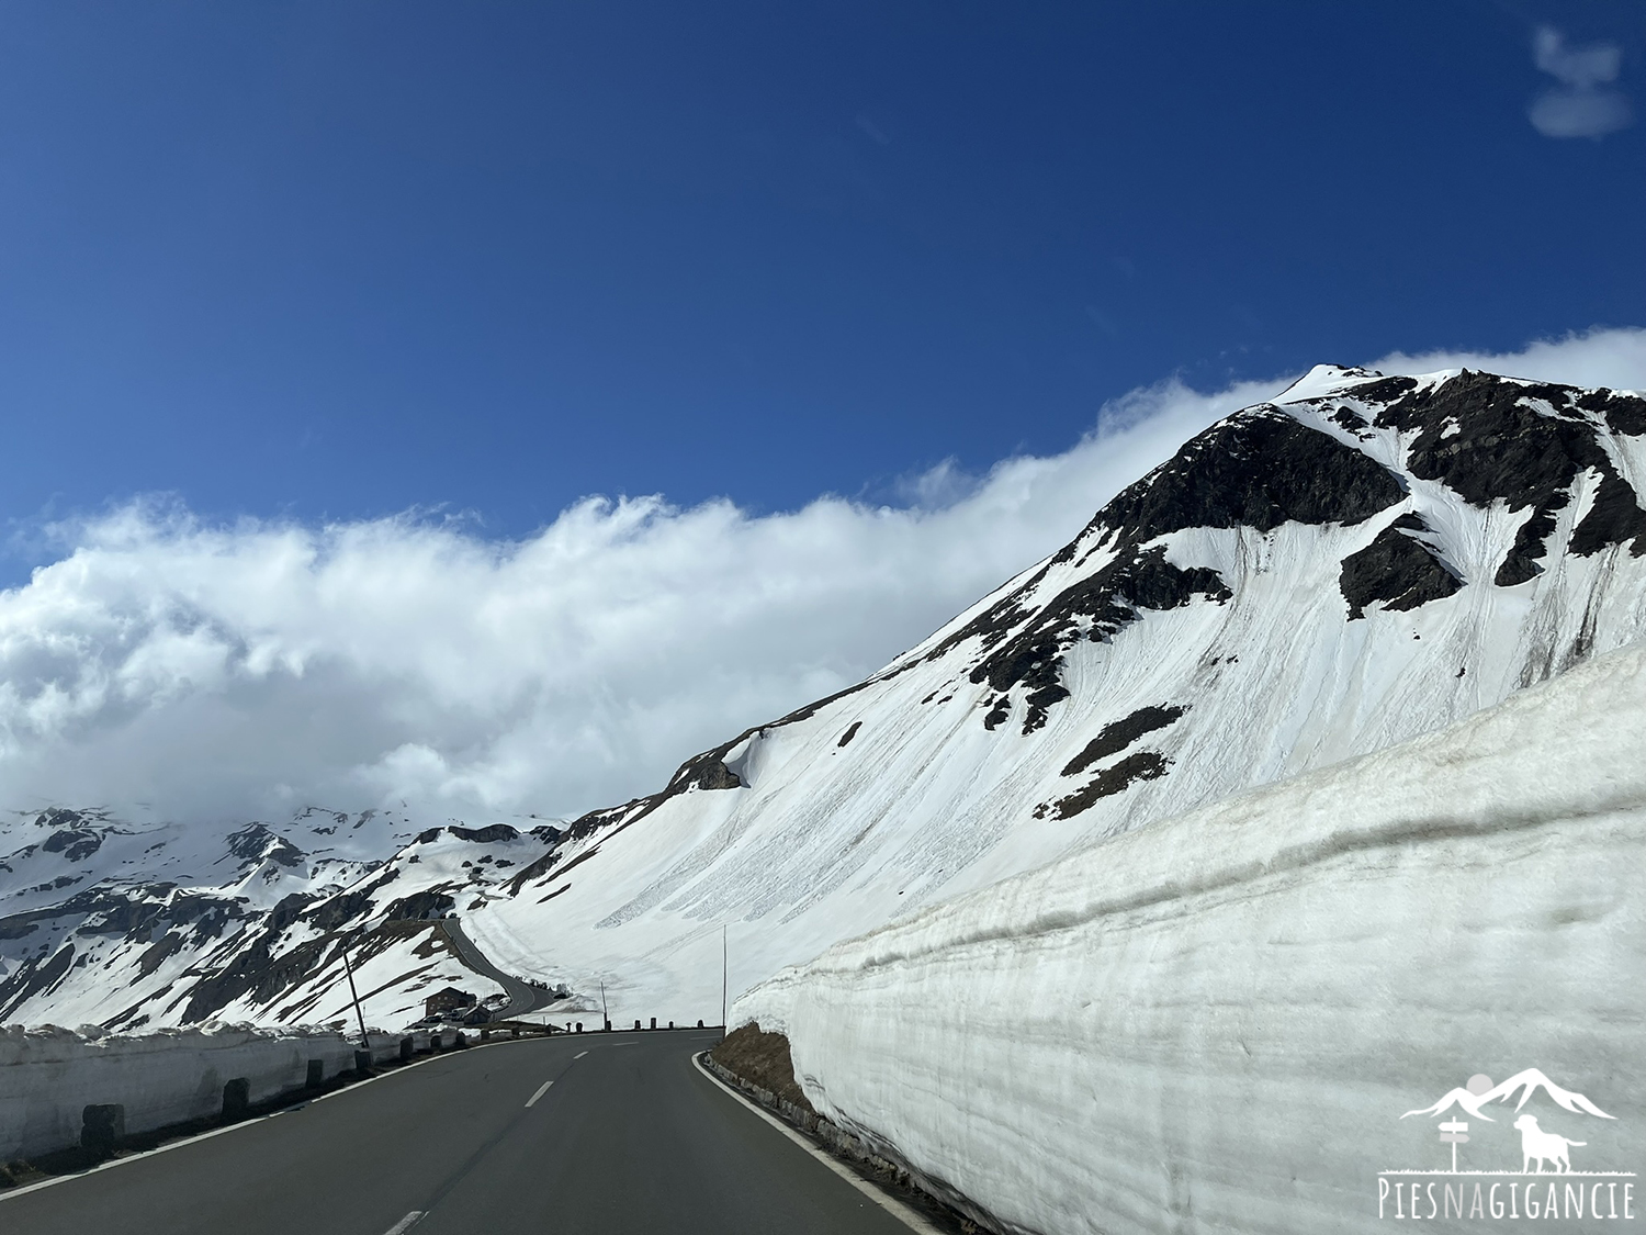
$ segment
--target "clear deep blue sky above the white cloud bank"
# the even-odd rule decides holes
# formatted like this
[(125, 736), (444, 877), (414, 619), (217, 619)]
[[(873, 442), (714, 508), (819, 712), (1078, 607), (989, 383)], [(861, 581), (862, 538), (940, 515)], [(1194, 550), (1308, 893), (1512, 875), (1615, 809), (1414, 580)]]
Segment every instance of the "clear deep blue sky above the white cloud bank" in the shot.
[(1542, 26), (1631, 107), (1636, 3), (5, 3), (0, 512), (897, 501), (1646, 323), (1646, 128), (1539, 133)]

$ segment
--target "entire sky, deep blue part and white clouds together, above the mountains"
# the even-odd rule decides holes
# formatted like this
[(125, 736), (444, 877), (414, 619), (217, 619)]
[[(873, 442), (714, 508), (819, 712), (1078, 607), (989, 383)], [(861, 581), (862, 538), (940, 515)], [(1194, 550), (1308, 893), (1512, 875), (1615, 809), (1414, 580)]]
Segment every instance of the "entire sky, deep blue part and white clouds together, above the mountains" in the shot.
[(0, 823), (571, 817), (1318, 361), (1646, 387), (1643, 40), (0, 0)]

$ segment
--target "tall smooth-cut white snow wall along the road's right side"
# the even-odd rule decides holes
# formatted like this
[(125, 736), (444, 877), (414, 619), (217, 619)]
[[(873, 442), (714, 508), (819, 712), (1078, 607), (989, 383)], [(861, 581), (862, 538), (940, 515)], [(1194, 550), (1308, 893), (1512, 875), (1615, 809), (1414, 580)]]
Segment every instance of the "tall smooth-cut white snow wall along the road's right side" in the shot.
[[(1643, 874), (1631, 647), (839, 944), (732, 1024), (787, 1032), (823, 1115), (1002, 1230), (1369, 1232), (1401, 1184), (1430, 1217), (1430, 1182), (1508, 1210), (1518, 1176), (1381, 1172), (1448, 1169), (1442, 1118), (1460, 1169), (1519, 1171), (1513, 1102), (1401, 1116), (1536, 1067), (1613, 1116), (1526, 1107), (1574, 1167), (1639, 1171)], [(1641, 1220), (1639, 1181), (1593, 1182)]]

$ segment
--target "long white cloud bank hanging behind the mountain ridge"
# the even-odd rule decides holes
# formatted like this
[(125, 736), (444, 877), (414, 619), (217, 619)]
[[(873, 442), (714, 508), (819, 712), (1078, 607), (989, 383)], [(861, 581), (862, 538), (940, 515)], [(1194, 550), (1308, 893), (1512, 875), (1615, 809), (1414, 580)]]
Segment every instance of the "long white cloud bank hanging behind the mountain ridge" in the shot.
[[(1396, 356), (1646, 387), (1646, 331)], [(576, 813), (848, 685), (1053, 552), (1215, 418), (1290, 379), (1104, 408), (1063, 454), (951, 464), (910, 506), (588, 499), (495, 542), (415, 515), (206, 525), (155, 504), (56, 527), (0, 593), (0, 805), (178, 818), (415, 799)]]

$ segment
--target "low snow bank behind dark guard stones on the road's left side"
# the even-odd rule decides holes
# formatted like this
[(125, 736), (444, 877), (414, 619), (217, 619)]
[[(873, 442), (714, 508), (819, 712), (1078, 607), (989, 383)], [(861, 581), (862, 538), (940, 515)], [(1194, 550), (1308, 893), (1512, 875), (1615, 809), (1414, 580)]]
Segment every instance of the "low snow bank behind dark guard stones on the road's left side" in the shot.
[[(398, 1054), (400, 1034), (374, 1032), (370, 1044), (384, 1062)], [(323, 1060), (328, 1080), (352, 1069), (357, 1046), (334, 1032), (250, 1026), (153, 1034), (10, 1026), (0, 1029), (0, 1161), (77, 1144), (94, 1103), (122, 1103), (127, 1133), (211, 1118), (227, 1080), (244, 1077), (250, 1102), (263, 1102), (301, 1087), (311, 1059)]]

